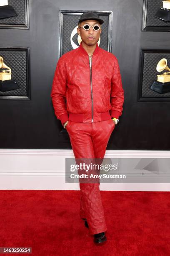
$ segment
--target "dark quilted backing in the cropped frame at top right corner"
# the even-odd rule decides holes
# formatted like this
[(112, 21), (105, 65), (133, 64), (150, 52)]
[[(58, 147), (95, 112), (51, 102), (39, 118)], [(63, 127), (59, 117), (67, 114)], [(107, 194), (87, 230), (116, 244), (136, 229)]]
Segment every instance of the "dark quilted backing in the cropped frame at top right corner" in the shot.
[(170, 27), (170, 22), (165, 22), (154, 17), (157, 10), (161, 7), (163, 7), (161, 0), (148, 0), (146, 26)]

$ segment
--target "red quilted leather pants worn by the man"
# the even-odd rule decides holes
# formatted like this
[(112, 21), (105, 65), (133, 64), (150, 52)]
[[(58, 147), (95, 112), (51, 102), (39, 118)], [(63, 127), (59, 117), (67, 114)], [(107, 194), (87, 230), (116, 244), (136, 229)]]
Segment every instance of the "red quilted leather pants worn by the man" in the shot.
[[(66, 129), (75, 159), (103, 159), (114, 128), (115, 123), (111, 118), (92, 123), (78, 123), (69, 120)], [(92, 235), (107, 230), (99, 186), (100, 182), (80, 183), (80, 218), (87, 219)]]

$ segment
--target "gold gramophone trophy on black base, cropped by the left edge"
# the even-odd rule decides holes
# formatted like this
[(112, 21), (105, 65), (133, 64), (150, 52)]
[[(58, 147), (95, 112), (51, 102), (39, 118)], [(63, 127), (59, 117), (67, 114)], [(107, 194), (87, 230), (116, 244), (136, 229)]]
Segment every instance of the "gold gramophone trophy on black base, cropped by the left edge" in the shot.
[(3, 62), (0, 56), (0, 91), (6, 92), (18, 89), (19, 86), (14, 79), (11, 78), (11, 69)]

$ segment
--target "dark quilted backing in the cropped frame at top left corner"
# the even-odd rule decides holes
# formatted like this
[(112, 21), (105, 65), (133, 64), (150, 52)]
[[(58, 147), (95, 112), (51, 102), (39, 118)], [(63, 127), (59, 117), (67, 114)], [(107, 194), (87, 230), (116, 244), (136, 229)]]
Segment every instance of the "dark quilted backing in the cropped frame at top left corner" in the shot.
[(8, 5), (12, 5), (17, 16), (0, 19), (0, 24), (20, 24), (25, 25), (25, 1), (8, 0)]

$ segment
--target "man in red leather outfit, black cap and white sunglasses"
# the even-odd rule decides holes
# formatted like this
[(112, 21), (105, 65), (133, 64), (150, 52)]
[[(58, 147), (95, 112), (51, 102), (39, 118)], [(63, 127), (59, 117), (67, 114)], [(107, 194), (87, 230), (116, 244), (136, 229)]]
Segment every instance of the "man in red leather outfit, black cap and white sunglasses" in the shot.
[[(82, 41), (58, 60), (51, 91), (55, 115), (69, 134), (75, 159), (101, 159), (100, 164), (124, 102), (117, 58), (97, 44), (103, 22), (93, 12), (80, 16), (77, 33)], [(95, 243), (106, 241), (107, 230), (99, 186), (98, 180), (80, 182), (80, 217)]]

